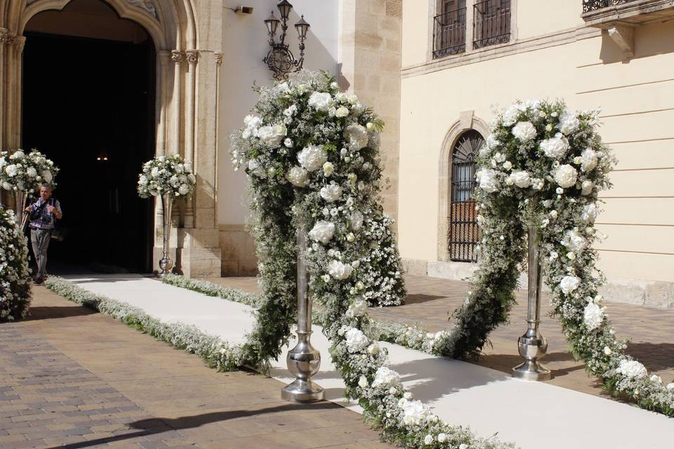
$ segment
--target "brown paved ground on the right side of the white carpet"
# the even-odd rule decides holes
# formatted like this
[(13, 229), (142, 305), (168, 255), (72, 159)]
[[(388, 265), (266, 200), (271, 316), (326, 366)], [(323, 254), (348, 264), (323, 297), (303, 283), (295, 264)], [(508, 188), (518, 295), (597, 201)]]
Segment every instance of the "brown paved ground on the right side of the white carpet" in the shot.
[[(430, 332), (447, 328), (449, 315), (456, 309), (470, 284), (464, 281), (428, 276), (406, 275), (408, 296), (400, 307), (371, 308), (379, 319), (417, 325)], [(256, 292), (255, 278), (209, 279), (223, 285)], [(510, 323), (496, 329), (489, 337), (491, 347), (473, 363), (510, 373), (521, 359), (517, 354), (517, 338), (527, 329), (527, 292), (517, 293), (518, 304), (510, 314)], [(674, 378), (674, 309), (652, 309), (632, 304), (606, 302), (607, 314), (616, 328), (616, 335), (630, 339), (628, 352), (645, 364), (649, 373), (661, 375), (665, 382)], [(556, 319), (548, 317), (550, 302), (543, 296), (541, 304), (541, 333), (548, 339), (548, 354), (543, 363), (553, 371), (554, 378), (548, 381), (581, 391), (601, 395), (601, 384), (588, 377), (584, 364), (575, 361)]]

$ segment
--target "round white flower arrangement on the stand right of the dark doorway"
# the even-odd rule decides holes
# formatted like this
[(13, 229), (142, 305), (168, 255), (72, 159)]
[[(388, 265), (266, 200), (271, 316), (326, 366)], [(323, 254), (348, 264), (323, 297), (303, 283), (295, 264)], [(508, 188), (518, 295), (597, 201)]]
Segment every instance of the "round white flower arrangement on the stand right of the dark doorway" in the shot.
[(143, 164), (138, 175), (138, 195), (141, 198), (170, 194), (174, 199), (192, 196), (197, 178), (192, 173), (192, 163), (183, 161), (178, 154), (157, 156)]

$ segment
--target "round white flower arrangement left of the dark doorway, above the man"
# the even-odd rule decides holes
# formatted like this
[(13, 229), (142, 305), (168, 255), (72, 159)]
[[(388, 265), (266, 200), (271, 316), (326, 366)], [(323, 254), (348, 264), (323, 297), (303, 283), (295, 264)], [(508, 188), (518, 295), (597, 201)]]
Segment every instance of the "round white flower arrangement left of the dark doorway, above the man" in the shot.
[(28, 154), (22, 149), (0, 152), (0, 185), (5, 190), (32, 194), (43, 183), (55, 186), (56, 175), (58, 167), (37, 149)]

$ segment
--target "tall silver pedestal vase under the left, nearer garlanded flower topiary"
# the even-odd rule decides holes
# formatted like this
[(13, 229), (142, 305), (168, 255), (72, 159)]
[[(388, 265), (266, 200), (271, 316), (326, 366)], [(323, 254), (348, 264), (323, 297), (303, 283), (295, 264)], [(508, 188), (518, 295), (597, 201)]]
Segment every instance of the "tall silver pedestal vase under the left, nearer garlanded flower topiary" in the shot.
[(303, 260), (307, 250), (307, 237), (302, 229), (297, 231), (297, 345), (288, 352), (288, 370), (294, 382), (281, 390), (285, 401), (314, 402), (324, 398), (324, 390), (311, 378), (321, 366), (321, 353), (311, 345), (311, 306), (308, 293), (308, 273)]

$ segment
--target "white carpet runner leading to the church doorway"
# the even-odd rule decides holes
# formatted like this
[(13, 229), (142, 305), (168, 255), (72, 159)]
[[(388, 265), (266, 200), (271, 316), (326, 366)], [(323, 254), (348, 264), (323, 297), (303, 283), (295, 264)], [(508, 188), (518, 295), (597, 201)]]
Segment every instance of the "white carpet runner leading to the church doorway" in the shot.
[[(168, 286), (136, 275), (69, 276), (81, 288), (127, 302), (165, 322), (194, 324), (230, 343), (244, 341), (253, 328), (251, 308)], [(315, 380), (326, 398), (345, 403), (344, 384), (330, 361), (328, 341), (314, 326), (312, 344), (321, 351)], [(498, 434), (522, 449), (669, 449), (674, 447), (674, 419), (640, 408), (542, 382), (515, 380), (500, 371), (472, 363), (430, 356), (395, 344), (390, 366), (400, 373), (415, 398), (434, 408), (451, 424), (469, 426), (483, 437)], [(272, 377), (291, 382), (285, 348), (273, 363)], [(280, 391), (279, 391), (280, 396)]]

